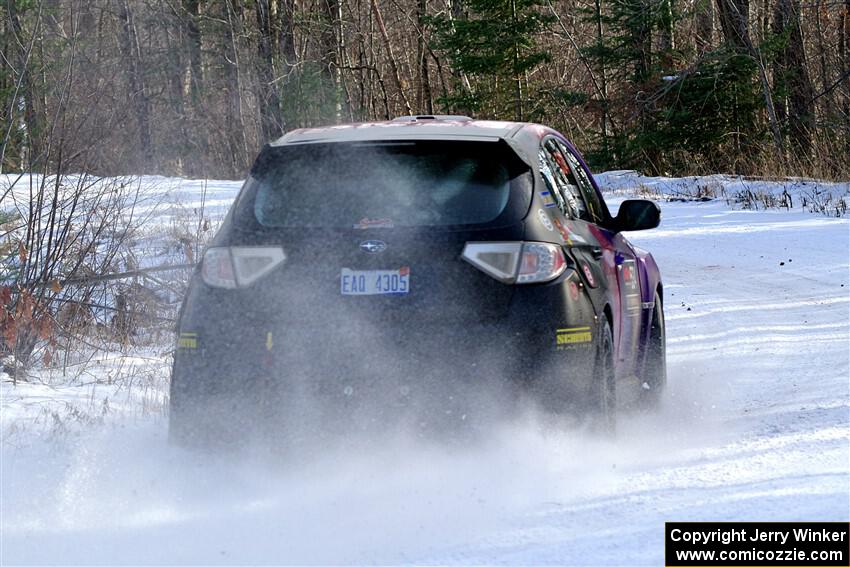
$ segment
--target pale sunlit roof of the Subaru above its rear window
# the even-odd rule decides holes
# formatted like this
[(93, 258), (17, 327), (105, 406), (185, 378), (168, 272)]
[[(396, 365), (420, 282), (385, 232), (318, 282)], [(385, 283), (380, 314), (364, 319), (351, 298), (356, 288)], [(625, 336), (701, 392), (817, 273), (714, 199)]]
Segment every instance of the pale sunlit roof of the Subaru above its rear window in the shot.
[[(524, 135), (520, 135), (520, 133)], [(536, 154), (536, 143), (554, 130), (527, 122), (473, 120), (466, 116), (419, 115), (402, 116), (384, 122), (339, 124), (320, 128), (300, 128), (287, 132), (270, 145), (281, 147), (299, 144), (337, 142), (381, 142), (403, 140), (454, 140), (470, 142), (506, 141), (529, 164)]]

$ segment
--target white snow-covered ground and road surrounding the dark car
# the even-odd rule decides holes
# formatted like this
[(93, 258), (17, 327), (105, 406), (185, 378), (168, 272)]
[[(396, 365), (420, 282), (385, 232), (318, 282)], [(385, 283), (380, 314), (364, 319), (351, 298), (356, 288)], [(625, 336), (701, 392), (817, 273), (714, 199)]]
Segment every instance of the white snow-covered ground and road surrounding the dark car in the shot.
[[(639, 185), (713, 182), (601, 178), (612, 208)], [(204, 185), (174, 183), (157, 210), (197, 206)], [(236, 188), (207, 185), (207, 203)], [(0, 563), (661, 565), (665, 521), (848, 521), (850, 222), (799, 194), (791, 211), (664, 203), (660, 228), (630, 235), (664, 276), (670, 384), (613, 440), (529, 415), (471, 446), (209, 456), (167, 444), (162, 379), (0, 380)], [(157, 356), (120, 364), (161, 376)], [(73, 419), (45, 403), (85, 423), (48, 426)]]

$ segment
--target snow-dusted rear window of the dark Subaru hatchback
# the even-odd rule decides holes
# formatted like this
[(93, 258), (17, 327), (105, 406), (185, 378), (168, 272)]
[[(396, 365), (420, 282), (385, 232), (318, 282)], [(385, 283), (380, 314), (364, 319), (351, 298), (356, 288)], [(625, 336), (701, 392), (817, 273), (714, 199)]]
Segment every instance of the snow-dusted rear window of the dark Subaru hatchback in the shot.
[(268, 147), (240, 206), (264, 227), (481, 225), (504, 220), (525, 171), (501, 142)]

